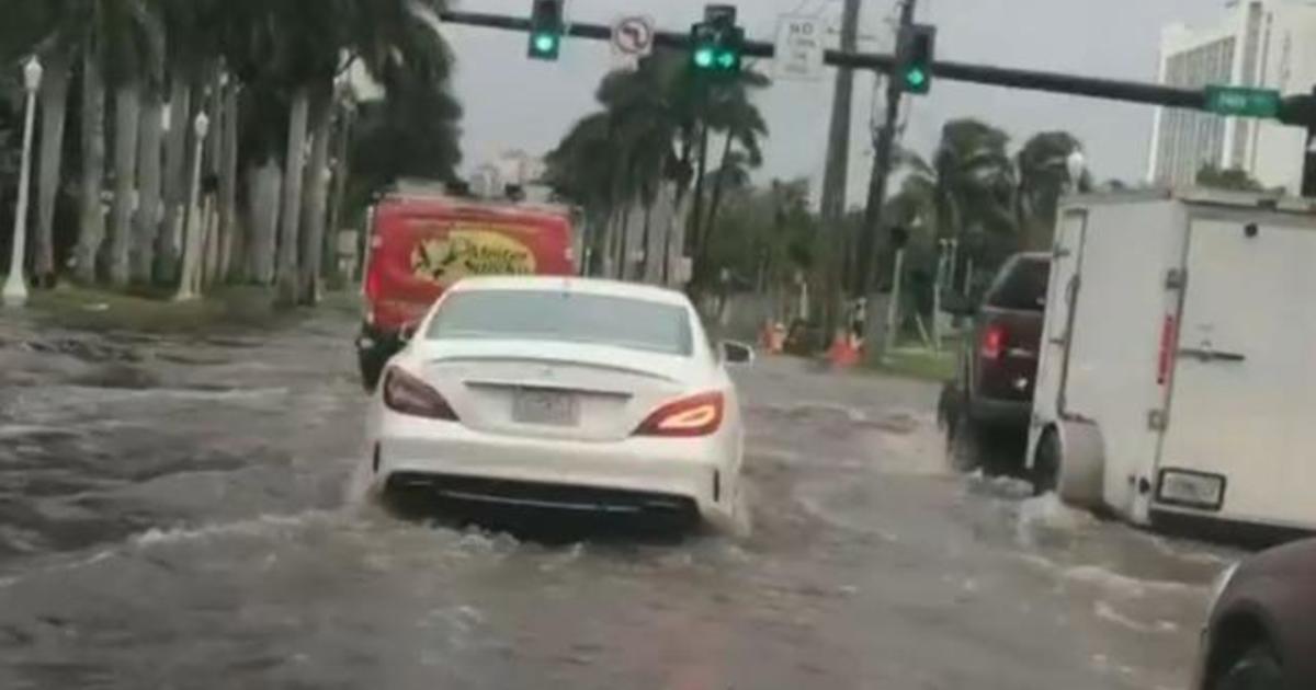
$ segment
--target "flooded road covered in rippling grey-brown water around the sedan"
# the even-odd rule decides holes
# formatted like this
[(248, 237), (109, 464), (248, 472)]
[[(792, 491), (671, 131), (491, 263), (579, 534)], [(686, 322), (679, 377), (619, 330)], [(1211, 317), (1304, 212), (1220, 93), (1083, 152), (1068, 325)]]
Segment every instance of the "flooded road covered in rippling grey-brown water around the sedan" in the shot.
[(957, 476), (936, 388), (761, 360), (751, 524), (529, 539), (359, 498), (353, 323), (0, 321), (0, 687), (1180, 689), (1227, 549)]

